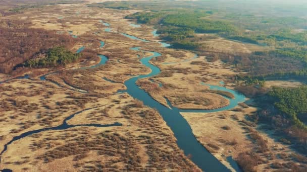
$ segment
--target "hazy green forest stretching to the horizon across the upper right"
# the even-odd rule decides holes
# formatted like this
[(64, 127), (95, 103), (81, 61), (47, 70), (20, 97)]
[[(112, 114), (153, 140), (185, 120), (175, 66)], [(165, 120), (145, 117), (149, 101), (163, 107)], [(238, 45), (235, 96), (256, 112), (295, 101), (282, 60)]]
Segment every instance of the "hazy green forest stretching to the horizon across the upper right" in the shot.
[[(306, 49), (307, 31), (293, 31), (296, 28), (306, 28), (307, 20), (293, 17), (302, 9), (289, 10), (285, 14), (278, 7), (264, 6), (252, 3), (261, 9), (254, 11), (253, 7), (244, 6), (245, 11), (237, 3), (221, 3), (220, 1), (171, 2), (161, 5), (158, 2), (105, 2), (92, 4), (90, 7), (147, 10), (129, 15), (127, 19), (136, 19), (138, 23), (155, 25), (162, 37), (176, 45), (175, 48), (199, 49), (200, 45), (191, 36), (194, 33), (212, 33), (218, 36), (241, 41), (244, 43), (272, 46), (278, 49)], [(247, 9), (246, 9), (247, 8)], [(227, 11), (225, 11), (227, 9)], [(149, 11), (149, 12), (148, 12)], [(289, 16), (289, 14), (291, 14)], [(294, 15), (295, 16), (295, 15)], [(239, 19), (239, 20), (238, 20)], [(175, 27), (175, 28), (174, 28)], [(193, 34), (185, 36), (185, 32), (169, 33), (169, 30), (191, 29)], [(175, 38), (175, 39), (172, 39)], [(188, 46), (184, 46), (187, 44)], [(190, 44), (196, 46), (190, 46)]]

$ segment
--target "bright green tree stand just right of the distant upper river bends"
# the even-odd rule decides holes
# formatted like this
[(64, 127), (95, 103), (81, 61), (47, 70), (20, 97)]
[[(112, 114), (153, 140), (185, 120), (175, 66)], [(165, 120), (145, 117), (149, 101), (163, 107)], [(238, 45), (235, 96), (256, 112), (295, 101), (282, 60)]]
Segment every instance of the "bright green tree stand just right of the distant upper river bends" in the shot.
[(197, 49), (200, 44), (194, 38), (195, 33), (217, 33), (226, 35), (234, 32), (235, 27), (223, 21), (203, 19), (212, 12), (203, 10), (170, 10), (161, 12), (139, 12), (127, 16), (137, 19), (138, 23), (156, 25), (163, 39), (171, 41), (174, 48)]

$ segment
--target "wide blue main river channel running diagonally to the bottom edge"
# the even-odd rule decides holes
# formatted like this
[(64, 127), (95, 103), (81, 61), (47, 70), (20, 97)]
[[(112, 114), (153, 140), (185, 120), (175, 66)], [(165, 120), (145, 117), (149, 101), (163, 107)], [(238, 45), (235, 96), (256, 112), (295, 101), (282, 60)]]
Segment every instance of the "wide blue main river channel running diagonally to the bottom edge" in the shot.
[[(139, 50), (138, 47), (134, 47), (133, 49)], [(155, 76), (161, 72), (161, 70), (157, 66), (149, 63), (150, 59), (161, 56), (161, 54), (158, 52), (150, 53), (152, 53), (153, 55), (149, 57), (144, 57), (140, 61), (143, 65), (149, 67), (151, 69), (151, 72), (149, 74), (135, 76), (130, 78), (129, 80), (126, 80), (126, 92), (133, 98), (142, 101), (145, 106), (149, 106), (150, 108), (158, 110), (164, 121), (166, 121), (167, 125), (172, 129), (177, 139), (178, 146), (184, 151), (185, 155), (192, 155), (191, 160), (196, 165), (198, 165), (198, 167), (200, 167), (204, 171), (229, 171), (226, 166), (224, 166), (215, 156), (213, 156), (197, 141), (195, 136), (192, 134), (190, 125), (180, 114), (182, 110), (176, 107), (172, 107), (172, 109), (170, 109), (168, 107), (163, 106), (162, 104), (154, 100), (152, 97), (150, 97), (144, 90), (138, 87), (138, 85), (136, 84), (136, 81), (138, 79)], [(212, 88), (214, 89), (213, 85)], [(220, 110), (215, 110), (215, 112), (218, 111)], [(190, 112), (198, 111), (190, 110)], [(210, 111), (203, 110), (201, 112)]]

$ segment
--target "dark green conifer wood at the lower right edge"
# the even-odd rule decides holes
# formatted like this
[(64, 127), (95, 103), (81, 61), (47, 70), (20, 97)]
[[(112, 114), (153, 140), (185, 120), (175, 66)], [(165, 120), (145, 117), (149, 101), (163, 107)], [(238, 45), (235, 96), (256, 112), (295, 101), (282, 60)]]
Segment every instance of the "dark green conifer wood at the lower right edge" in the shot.
[[(239, 89), (255, 88), (250, 85)], [(265, 90), (259, 88), (258, 91)], [(243, 90), (244, 91), (244, 90)], [(260, 129), (270, 130), (274, 138), (294, 148), (300, 153), (307, 153), (307, 87), (273, 88), (252, 96), (260, 109), (249, 117), (254, 123), (262, 124)], [(303, 117), (304, 116), (304, 117)]]

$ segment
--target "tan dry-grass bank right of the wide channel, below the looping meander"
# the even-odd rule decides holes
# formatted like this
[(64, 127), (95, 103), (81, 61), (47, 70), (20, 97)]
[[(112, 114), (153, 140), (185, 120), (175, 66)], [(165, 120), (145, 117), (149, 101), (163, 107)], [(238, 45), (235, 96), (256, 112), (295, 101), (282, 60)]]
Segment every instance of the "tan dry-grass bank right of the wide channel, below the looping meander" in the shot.
[[(248, 108), (246, 111), (255, 111), (255, 109)], [(238, 124), (238, 121), (245, 118), (246, 111), (180, 114), (191, 125), (197, 140), (223, 164), (235, 171), (227, 161), (227, 157), (232, 156), (236, 159), (240, 153), (249, 151), (252, 147), (245, 130)]]

